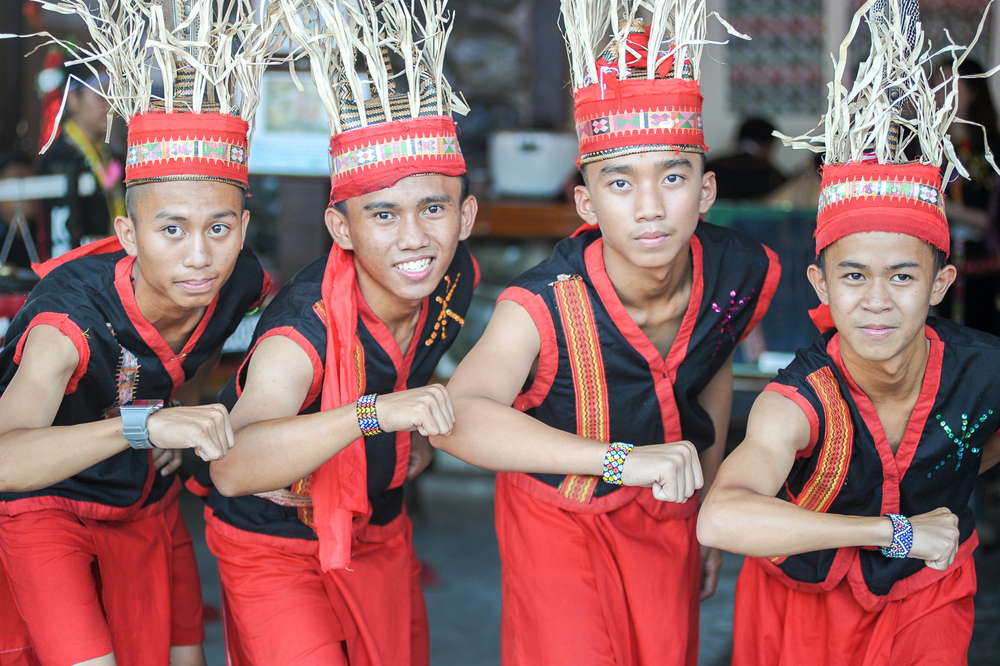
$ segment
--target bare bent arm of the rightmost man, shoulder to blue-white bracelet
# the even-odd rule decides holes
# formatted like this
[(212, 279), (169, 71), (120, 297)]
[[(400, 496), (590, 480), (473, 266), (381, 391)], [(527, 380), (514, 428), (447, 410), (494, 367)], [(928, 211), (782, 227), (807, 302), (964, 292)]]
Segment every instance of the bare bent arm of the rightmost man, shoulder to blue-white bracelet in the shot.
[(746, 439), (722, 463), (705, 498), (698, 540), (751, 557), (891, 545), (892, 524), (885, 518), (817, 513), (775, 497), (809, 435), (798, 405), (762, 393), (750, 411)]

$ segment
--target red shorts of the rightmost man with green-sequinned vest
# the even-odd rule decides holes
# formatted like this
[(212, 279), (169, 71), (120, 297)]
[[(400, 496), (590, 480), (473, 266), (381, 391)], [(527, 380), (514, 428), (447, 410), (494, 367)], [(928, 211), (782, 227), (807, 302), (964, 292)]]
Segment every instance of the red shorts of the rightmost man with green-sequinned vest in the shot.
[(960, 666), (975, 593), (971, 557), (878, 611), (862, 608), (846, 579), (829, 592), (793, 590), (748, 557), (736, 584), (733, 666)]

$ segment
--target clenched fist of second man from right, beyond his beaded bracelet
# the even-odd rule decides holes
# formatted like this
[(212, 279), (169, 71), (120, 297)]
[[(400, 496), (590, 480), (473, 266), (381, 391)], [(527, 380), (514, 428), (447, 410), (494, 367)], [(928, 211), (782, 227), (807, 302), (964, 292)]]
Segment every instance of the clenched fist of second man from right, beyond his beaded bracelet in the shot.
[(691, 442), (637, 446), (625, 458), (622, 483), (652, 488), (661, 502), (686, 502), (704, 484), (698, 451)]

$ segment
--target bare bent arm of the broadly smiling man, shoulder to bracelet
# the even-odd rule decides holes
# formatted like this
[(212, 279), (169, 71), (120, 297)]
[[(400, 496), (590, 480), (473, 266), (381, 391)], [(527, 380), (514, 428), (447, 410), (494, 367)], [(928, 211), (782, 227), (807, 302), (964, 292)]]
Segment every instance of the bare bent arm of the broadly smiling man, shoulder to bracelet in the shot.
[(295, 342), (272, 336), (257, 345), (230, 414), (236, 444), (211, 465), (219, 492), (233, 497), (284, 488), (361, 437), (353, 403), (299, 414), (312, 383), (312, 362)]

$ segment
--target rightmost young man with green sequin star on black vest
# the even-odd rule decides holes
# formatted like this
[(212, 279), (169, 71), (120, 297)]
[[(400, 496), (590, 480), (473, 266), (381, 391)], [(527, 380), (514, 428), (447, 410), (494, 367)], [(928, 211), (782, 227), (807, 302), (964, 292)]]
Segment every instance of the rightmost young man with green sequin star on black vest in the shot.
[[(898, 112), (874, 92), (883, 63), (896, 64), (894, 49), (878, 51), (864, 108), (831, 98), (828, 113), (849, 132), (826, 147), (808, 271), (825, 314), (814, 319), (829, 330), (757, 399), (698, 525), (703, 543), (750, 556), (733, 664), (968, 659), (968, 504), (976, 475), (1000, 460), (1000, 340), (927, 317), (956, 275), (941, 171), (931, 157), (906, 163), (881, 121), (858, 119)], [(924, 72), (908, 78), (915, 106), (933, 105)], [(955, 115), (933, 110), (918, 121), (925, 156), (944, 152)]]

